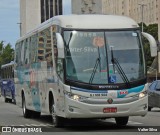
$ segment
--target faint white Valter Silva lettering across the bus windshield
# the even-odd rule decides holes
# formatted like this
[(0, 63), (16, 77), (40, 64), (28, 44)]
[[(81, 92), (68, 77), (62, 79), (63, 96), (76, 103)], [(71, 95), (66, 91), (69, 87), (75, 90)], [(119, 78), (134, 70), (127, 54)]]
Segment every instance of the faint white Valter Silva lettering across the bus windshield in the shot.
[(76, 52), (76, 53), (85, 53), (85, 52), (97, 52), (97, 48), (95, 47), (84, 47), (84, 48), (69, 48), (67, 49), (69, 52)]

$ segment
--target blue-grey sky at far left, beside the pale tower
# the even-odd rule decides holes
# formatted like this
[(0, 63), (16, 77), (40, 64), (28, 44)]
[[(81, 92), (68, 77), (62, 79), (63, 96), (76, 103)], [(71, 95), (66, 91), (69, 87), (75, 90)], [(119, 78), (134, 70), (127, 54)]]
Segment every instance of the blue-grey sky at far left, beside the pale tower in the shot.
[(14, 48), (19, 38), (19, 0), (0, 0), (0, 42)]

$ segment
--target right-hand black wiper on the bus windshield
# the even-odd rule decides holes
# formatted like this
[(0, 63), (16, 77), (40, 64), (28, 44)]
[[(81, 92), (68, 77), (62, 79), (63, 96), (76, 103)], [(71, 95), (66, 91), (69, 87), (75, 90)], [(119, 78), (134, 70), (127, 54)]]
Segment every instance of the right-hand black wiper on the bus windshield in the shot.
[(117, 69), (118, 73), (120, 74), (121, 78), (126, 83), (127, 87), (129, 87), (130, 86), (130, 82), (129, 82), (125, 72), (123, 71), (121, 65), (119, 64), (118, 60), (116, 58), (114, 58), (112, 47), (111, 47), (111, 62), (113, 64), (113, 68), (116, 67), (116, 69)]

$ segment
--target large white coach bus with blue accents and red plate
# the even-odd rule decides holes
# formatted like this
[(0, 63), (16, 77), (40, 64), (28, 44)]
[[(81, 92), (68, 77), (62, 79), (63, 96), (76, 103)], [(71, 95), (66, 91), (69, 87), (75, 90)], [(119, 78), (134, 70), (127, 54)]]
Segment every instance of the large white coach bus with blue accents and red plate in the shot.
[(64, 119), (145, 116), (146, 64), (141, 35), (157, 55), (154, 38), (124, 16), (63, 15), (19, 39), (15, 47), (17, 104), (25, 118)]

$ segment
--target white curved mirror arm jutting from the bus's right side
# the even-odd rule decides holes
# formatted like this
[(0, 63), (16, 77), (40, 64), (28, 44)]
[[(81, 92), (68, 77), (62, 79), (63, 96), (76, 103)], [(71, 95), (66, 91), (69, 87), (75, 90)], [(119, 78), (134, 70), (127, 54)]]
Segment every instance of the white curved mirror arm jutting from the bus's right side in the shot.
[(157, 43), (156, 40), (148, 33), (142, 32), (142, 35), (149, 41), (150, 43), (150, 50), (151, 50), (151, 56), (155, 57), (157, 56)]

